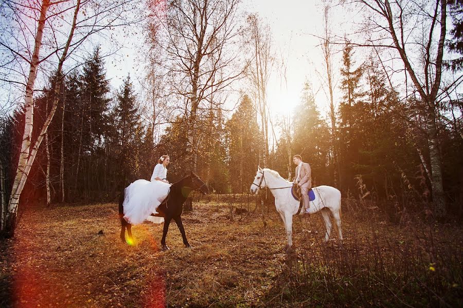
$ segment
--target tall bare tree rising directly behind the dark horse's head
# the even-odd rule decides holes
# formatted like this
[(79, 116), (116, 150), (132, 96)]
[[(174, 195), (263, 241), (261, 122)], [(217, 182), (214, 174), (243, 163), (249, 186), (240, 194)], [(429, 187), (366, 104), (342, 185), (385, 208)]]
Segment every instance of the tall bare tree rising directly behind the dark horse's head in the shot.
[(199, 112), (207, 109), (205, 98), (227, 88), (241, 75), (237, 69), (238, 50), (233, 49), (238, 34), (239, 0), (170, 0), (151, 4), (164, 57), (159, 67), (165, 71), (168, 92), (187, 119), (186, 167), (195, 170), (195, 132)]

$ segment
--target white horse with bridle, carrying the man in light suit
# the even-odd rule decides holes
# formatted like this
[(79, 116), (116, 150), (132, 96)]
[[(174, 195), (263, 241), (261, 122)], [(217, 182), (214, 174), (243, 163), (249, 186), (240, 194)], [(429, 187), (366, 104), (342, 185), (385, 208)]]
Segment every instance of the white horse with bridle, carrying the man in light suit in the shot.
[[(292, 225), (293, 216), (299, 213), (299, 201), (294, 199), (291, 194), (292, 182), (283, 179), (277, 171), (268, 168), (262, 169), (258, 167), (256, 177), (251, 184), (251, 193), (257, 194), (259, 189), (268, 188), (275, 197), (275, 207), (281, 215), (286, 235), (288, 237), (287, 248), (290, 249), (293, 245), (292, 241)], [(320, 211), (326, 226), (325, 242), (328, 242), (331, 234), (330, 212), (336, 221), (337, 230), (339, 232), (339, 244), (343, 243), (343, 233), (341, 230), (341, 191), (331, 186), (317, 186), (312, 190), (315, 193), (315, 200), (310, 201), (309, 214), (314, 214)], [(304, 209), (300, 211), (304, 214)]]

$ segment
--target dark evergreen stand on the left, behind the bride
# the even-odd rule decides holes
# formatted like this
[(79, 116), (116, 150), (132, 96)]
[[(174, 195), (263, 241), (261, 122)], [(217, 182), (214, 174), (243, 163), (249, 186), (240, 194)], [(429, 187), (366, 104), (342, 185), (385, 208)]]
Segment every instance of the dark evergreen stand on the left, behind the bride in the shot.
[[(54, 80), (35, 99), (34, 125), (40, 127), (54, 99)], [(11, 187), (19, 156), (24, 112), (2, 122), (2, 161)], [(34, 131), (32, 142), (37, 139)], [(142, 123), (130, 76), (113, 95), (99, 49), (82, 70), (65, 77), (58, 111), (27, 179), (26, 203), (112, 200), (127, 183), (151, 176), (152, 127)], [(7, 195), (9, 191), (7, 191)]]

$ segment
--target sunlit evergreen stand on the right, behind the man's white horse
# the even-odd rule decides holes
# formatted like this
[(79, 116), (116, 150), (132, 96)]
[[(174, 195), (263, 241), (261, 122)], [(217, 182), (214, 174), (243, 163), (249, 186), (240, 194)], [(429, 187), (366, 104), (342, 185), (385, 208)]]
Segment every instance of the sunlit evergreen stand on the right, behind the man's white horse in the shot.
[[(344, 197), (374, 201), (382, 207), (423, 209), (432, 202), (432, 176), (426, 114), (419, 97), (415, 93), (401, 101), (377, 62), (355, 64), (349, 44), (343, 50), (340, 74), (343, 98), (335, 114), (334, 137), (330, 121), (320, 117), (311, 85), (306, 83), (302, 102), (293, 113), (294, 134), (290, 142), (284, 136), (280, 139), (274, 168), (285, 174), (289, 147), (289, 152), (300, 153), (311, 164), (314, 185), (333, 185)], [(436, 123), (446, 201), (452, 213), (459, 214), (462, 111), (463, 101), (442, 101), (438, 110), (442, 117)]]

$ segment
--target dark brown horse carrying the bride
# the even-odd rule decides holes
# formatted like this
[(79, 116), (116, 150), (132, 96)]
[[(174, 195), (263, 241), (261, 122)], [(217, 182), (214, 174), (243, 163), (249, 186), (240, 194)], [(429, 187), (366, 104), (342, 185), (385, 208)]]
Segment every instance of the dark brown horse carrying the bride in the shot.
[[(175, 182), (170, 187), (169, 195), (167, 196), (166, 200), (161, 203), (156, 209), (158, 214), (153, 215), (156, 217), (164, 217), (164, 229), (163, 229), (163, 238), (161, 239), (161, 246), (163, 251), (169, 249), (166, 245), (166, 236), (169, 230), (170, 221), (173, 219), (177, 226), (180, 229), (180, 233), (182, 234), (183, 243), (185, 247), (191, 247), (188, 243), (188, 240), (185, 235), (185, 229), (182, 223), (182, 213), (183, 213), (183, 204), (185, 200), (190, 195), (192, 190), (198, 190), (202, 192), (202, 194), (209, 194), (209, 189), (207, 185), (193, 172), (186, 177), (183, 177), (181, 180)], [(128, 223), (124, 218), (124, 191), (119, 197), (119, 217), (121, 223), (121, 230), (120, 230), (120, 239), (125, 243), (126, 242), (126, 228), (127, 233), (129, 236), (129, 243), (133, 243), (132, 237), (132, 225)]]

